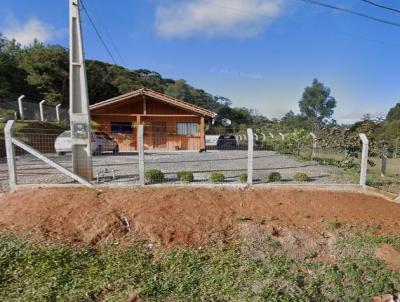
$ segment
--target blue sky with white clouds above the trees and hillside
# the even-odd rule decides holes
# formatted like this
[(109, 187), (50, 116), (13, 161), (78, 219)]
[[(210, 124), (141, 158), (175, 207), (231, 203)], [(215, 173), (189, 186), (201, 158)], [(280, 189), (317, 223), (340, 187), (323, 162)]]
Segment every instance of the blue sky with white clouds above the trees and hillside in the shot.
[[(362, 0), (320, 1), (400, 23)], [(331, 88), (340, 123), (385, 116), (400, 101), (400, 26), (301, 0), (84, 3), (118, 64), (185, 79), (269, 118), (297, 113), (314, 78)], [(83, 12), (82, 26), (85, 56), (112, 63)], [(0, 32), (22, 45), (68, 46), (68, 0), (1, 0)]]

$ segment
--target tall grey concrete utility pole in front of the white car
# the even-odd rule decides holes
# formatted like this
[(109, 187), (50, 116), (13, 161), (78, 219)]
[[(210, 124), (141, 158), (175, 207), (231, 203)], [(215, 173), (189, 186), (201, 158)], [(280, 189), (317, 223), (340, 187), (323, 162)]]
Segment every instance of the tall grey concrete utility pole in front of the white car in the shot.
[(69, 0), (69, 105), (72, 141), (72, 167), (75, 174), (91, 181), (93, 178), (90, 149), (90, 113), (83, 54), (80, 0)]

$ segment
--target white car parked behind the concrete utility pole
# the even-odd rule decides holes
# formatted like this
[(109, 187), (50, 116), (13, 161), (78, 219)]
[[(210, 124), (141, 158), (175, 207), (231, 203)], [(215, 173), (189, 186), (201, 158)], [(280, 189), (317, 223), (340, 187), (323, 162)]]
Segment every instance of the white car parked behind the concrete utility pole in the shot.
[[(113, 154), (119, 152), (118, 143), (104, 132), (96, 131), (90, 134), (90, 147), (93, 154), (102, 154), (107, 151), (111, 151)], [(64, 131), (57, 136), (54, 148), (58, 155), (71, 152), (71, 131)]]

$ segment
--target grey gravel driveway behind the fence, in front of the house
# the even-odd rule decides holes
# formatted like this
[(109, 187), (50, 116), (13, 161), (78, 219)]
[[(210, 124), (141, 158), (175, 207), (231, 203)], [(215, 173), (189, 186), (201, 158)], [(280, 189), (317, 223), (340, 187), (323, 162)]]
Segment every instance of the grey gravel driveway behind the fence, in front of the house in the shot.
[[(71, 155), (48, 157), (62, 166), (71, 169)], [(247, 151), (226, 150), (199, 152), (146, 152), (146, 169), (158, 168), (165, 173), (166, 181), (176, 181), (176, 172), (189, 170), (194, 173), (196, 182), (207, 181), (210, 172), (222, 172), (227, 182), (238, 182), (239, 175), (247, 170)], [(115, 170), (115, 180), (102, 178), (101, 182), (135, 183), (138, 180), (137, 154), (102, 155), (93, 157), (94, 175), (100, 170)], [(290, 181), (296, 172), (305, 172), (314, 183), (346, 183), (340, 169), (320, 166), (315, 162), (298, 162), (273, 151), (254, 151), (254, 179), (260, 182), (271, 171), (279, 171), (284, 181)], [(57, 170), (47, 166), (30, 155), (17, 157), (19, 184), (59, 184), (71, 180)], [(0, 191), (8, 190), (6, 160), (0, 159)]]

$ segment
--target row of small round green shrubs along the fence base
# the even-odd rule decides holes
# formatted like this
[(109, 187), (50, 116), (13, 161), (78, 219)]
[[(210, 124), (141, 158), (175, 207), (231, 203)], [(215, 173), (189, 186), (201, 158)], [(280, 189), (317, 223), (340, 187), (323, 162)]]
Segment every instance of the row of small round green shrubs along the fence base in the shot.
[[(146, 170), (144, 173), (144, 177), (145, 177), (146, 183), (149, 183), (149, 184), (160, 183), (160, 182), (163, 182), (165, 179), (164, 173), (158, 169)], [(193, 172), (180, 171), (177, 173), (177, 179), (179, 181), (182, 181), (185, 183), (193, 182), (194, 181)], [(225, 175), (220, 172), (213, 172), (208, 176), (208, 180), (212, 183), (222, 183), (225, 181)], [(307, 182), (307, 181), (310, 181), (310, 177), (306, 173), (298, 172), (293, 176), (293, 180), (297, 181), (297, 182)], [(246, 183), (247, 182), (247, 173), (240, 174), (239, 181), (241, 183)], [(269, 174), (265, 175), (264, 178), (262, 179), (262, 181), (265, 183), (279, 182), (279, 181), (282, 181), (282, 175), (279, 172), (273, 171), (273, 172), (270, 172)]]

